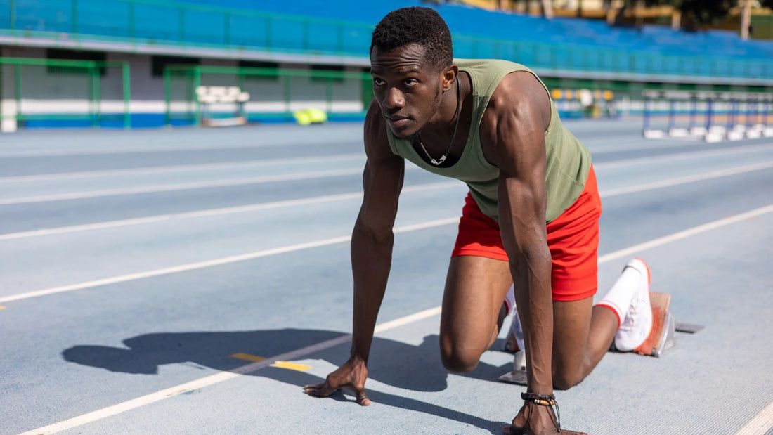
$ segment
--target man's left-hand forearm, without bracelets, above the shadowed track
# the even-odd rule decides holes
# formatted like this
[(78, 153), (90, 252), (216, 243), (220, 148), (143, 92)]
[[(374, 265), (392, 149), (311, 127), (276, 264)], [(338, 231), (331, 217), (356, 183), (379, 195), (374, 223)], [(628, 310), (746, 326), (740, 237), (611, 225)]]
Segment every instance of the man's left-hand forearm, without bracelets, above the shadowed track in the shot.
[(394, 236), (378, 237), (357, 219), (352, 233), (352, 275), (354, 312), (352, 315), (352, 358), (368, 362), (373, 328), (381, 308), (386, 280), (392, 263)]

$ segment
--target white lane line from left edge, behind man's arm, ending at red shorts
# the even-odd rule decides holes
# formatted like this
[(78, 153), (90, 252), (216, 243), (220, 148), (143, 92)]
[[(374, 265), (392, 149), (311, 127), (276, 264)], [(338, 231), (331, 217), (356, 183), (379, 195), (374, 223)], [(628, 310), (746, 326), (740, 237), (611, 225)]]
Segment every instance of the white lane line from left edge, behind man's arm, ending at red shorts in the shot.
[[(438, 219), (427, 223), (419, 223), (415, 225), (399, 226), (393, 230), (394, 233), (406, 233), (408, 231), (415, 231), (417, 229), (432, 228), (434, 226), (450, 225), (451, 223), (458, 223), (459, 218)], [(101, 280), (91, 280), (79, 284), (70, 284), (60, 287), (50, 287), (38, 291), (29, 291), (27, 293), (12, 294), (10, 296), (0, 297), (0, 303), (10, 301), (20, 301), (22, 299), (29, 299), (31, 297), (45, 296), (47, 294), (65, 293), (68, 291), (83, 290), (86, 288), (100, 287), (107, 284), (117, 284), (126, 281), (140, 280), (148, 277), (158, 277), (161, 275), (176, 274), (179, 272), (186, 272), (189, 270), (203, 269), (205, 267), (220, 266), (228, 263), (236, 263), (237, 261), (254, 260), (260, 257), (269, 257), (271, 255), (277, 255), (280, 253), (288, 253), (297, 250), (306, 250), (309, 248), (315, 248), (318, 246), (333, 245), (335, 243), (344, 243), (351, 240), (352, 236), (340, 236), (333, 237), (331, 239), (317, 240), (315, 242), (297, 243), (295, 245), (280, 246), (268, 250), (259, 250), (250, 253), (243, 253), (240, 255), (234, 255), (230, 257), (216, 258), (215, 260), (198, 261), (196, 263), (181, 264), (174, 267), (163, 267), (161, 269), (146, 270), (145, 272), (138, 272), (136, 274), (126, 274), (117, 277), (104, 278)]]

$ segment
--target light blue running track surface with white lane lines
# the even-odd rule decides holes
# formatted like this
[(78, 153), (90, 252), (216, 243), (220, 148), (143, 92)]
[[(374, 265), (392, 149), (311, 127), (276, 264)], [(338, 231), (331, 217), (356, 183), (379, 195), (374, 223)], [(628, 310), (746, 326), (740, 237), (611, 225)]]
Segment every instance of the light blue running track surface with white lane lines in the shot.
[[(628, 259), (672, 295), (656, 359), (609, 353), (557, 392), (593, 434), (770, 433), (773, 141), (569, 121), (604, 205), (599, 294)], [(0, 433), (501, 433), (525, 387), (504, 334), (449, 374), (439, 306), (465, 186), (407, 165), (366, 384), (349, 353), (361, 124), (0, 137)], [(236, 355), (236, 356), (234, 356)]]

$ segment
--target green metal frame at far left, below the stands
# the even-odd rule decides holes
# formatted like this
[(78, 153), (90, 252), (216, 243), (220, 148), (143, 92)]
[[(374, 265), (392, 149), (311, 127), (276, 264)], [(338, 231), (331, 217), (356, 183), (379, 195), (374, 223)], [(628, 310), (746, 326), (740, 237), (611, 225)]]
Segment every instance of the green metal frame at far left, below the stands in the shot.
[[(92, 127), (100, 126), (104, 119), (111, 117), (119, 117), (121, 124), (124, 128), (131, 126), (131, 114), (129, 110), (129, 103), (131, 100), (131, 71), (128, 62), (100, 62), (93, 60), (67, 60), (67, 59), (26, 59), (15, 57), (0, 57), (0, 70), (5, 68), (12, 68), (12, 87), (13, 90), (2, 89), (2, 85), (6, 87), (9, 83), (2, 83), (0, 80), (0, 97), (5, 97), (5, 94), (12, 92), (15, 104), (12, 114), (2, 113), (3, 104), (0, 104), (0, 119), (13, 120), (17, 124), (24, 124), (25, 121), (87, 121)], [(102, 75), (104, 71), (111, 69), (117, 69), (121, 73), (121, 97), (122, 97), (122, 110), (113, 110), (111, 113), (104, 113), (102, 108)], [(37, 72), (35, 72), (37, 70)], [(25, 78), (35, 77), (41, 80), (43, 75), (46, 76), (83, 76), (85, 80), (85, 95), (83, 94), (71, 94), (67, 96), (42, 96), (42, 95), (29, 95), (30, 93), (36, 93), (37, 90), (33, 87), (39, 87), (40, 83), (25, 83)], [(2, 73), (0, 73), (2, 77)], [(79, 77), (80, 79), (80, 77)], [(80, 81), (80, 80), (78, 80)], [(87, 110), (83, 110), (83, 113), (56, 113), (56, 108), (53, 110), (46, 110), (46, 113), (32, 113), (27, 114), (25, 107), (26, 103), (46, 104), (43, 102), (56, 101), (57, 98), (66, 97), (67, 99), (77, 98), (87, 101)], [(7, 109), (7, 107), (6, 107)], [(40, 112), (40, 110), (36, 110)]]

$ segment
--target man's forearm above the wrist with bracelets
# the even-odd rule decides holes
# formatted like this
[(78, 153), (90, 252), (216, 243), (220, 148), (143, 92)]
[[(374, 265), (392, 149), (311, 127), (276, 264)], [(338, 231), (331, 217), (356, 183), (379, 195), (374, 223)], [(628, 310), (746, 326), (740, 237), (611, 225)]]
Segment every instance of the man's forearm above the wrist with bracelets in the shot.
[(553, 393), (553, 295), (550, 289), (550, 251), (547, 245), (511, 261), (516, 283), (516, 307), (526, 343), (528, 391)]

